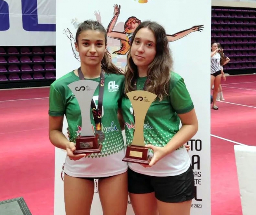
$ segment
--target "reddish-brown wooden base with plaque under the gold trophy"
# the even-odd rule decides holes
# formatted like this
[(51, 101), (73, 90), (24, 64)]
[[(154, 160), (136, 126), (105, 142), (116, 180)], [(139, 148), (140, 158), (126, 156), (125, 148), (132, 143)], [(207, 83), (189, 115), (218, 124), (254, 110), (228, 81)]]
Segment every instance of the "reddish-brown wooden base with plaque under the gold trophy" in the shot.
[(127, 146), (126, 156), (122, 161), (148, 165), (150, 160), (148, 148), (142, 146)]

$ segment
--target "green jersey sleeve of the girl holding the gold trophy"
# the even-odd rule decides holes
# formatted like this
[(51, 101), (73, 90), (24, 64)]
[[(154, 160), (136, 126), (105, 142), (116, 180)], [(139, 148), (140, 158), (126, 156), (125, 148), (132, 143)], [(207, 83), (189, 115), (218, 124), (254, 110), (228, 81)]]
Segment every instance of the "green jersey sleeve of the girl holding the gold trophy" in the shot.
[(184, 79), (180, 78), (170, 92), (170, 102), (178, 114), (188, 113), (194, 109), (194, 104), (185, 85)]

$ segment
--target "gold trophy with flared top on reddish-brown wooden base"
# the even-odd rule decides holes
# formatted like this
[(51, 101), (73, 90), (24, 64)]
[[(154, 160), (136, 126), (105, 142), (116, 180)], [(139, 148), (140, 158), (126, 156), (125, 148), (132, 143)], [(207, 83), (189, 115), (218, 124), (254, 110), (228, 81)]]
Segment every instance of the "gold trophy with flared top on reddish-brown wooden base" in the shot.
[(144, 142), (144, 120), (156, 95), (144, 91), (136, 90), (127, 93), (128, 98), (133, 106), (133, 113), (135, 116), (135, 130), (133, 134), (132, 143), (127, 146), (126, 156), (122, 161), (140, 164), (149, 164), (150, 156), (148, 155), (148, 148), (145, 147)]

